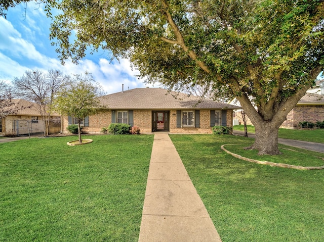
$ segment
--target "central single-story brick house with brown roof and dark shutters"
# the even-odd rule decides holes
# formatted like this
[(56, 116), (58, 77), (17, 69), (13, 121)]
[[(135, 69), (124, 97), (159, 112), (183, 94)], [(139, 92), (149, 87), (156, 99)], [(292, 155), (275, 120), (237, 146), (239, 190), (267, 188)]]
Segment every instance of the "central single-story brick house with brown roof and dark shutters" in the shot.
[[(215, 125), (232, 127), (233, 110), (240, 108), (163, 88), (135, 88), (102, 96), (100, 101), (106, 109), (87, 117), (83, 132), (99, 133), (111, 123), (127, 123), (141, 133), (212, 133)], [(73, 123), (72, 117), (63, 117), (63, 132)]]

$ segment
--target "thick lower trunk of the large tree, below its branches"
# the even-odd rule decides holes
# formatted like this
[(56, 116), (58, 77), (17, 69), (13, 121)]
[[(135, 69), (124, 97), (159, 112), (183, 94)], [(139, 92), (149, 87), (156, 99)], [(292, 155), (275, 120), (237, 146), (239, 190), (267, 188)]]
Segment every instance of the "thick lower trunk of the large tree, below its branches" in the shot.
[(255, 141), (251, 149), (258, 150), (258, 155), (279, 155), (278, 149), (279, 127), (264, 124), (262, 128), (255, 130)]

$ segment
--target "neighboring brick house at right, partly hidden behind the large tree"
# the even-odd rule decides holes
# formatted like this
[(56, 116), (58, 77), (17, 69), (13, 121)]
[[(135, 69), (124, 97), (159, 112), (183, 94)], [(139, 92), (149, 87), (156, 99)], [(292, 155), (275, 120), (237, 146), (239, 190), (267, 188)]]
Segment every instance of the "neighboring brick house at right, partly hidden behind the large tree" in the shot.
[[(243, 124), (240, 110), (233, 114), (234, 125)], [(310, 88), (300, 99), (296, 107), (287, 115), (281, 128), (297, 128), (300, 122), (324, 121), (324, 80), (317, 80), (316, 85)], [(253, 125), (248, 118), (248, 125)]]

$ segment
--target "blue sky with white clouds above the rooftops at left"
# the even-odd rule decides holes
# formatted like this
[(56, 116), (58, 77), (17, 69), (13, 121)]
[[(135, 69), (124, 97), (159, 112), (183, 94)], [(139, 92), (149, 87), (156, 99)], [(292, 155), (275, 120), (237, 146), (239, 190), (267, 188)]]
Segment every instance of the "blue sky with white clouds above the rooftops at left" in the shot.
[(26, 70), (59, 69), (66, 75), (91, 72), (108, 94), (121, 91), (121, 84), (125, 90), (152, 87), (135, 77), (139, 72), (131, 69), (128, 60), (110, 63), (107, 52), (89, 54), (78, 65), (67, 60), (62, 66), (49, 39), (51, 19), (46, 17), (44, 6), (30, 2), (24, 16), (25, 7), (20, 4), (9, 9), (7, 19), (0, 17), (0, 79), (10, 82)]

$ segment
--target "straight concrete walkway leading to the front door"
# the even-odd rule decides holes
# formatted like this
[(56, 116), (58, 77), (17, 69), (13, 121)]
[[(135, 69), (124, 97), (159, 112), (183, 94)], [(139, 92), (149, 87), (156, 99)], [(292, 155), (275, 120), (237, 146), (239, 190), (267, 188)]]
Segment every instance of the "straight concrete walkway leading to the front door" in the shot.
[(155, 133), (139, 242), (221, 241), (167, 133)]

